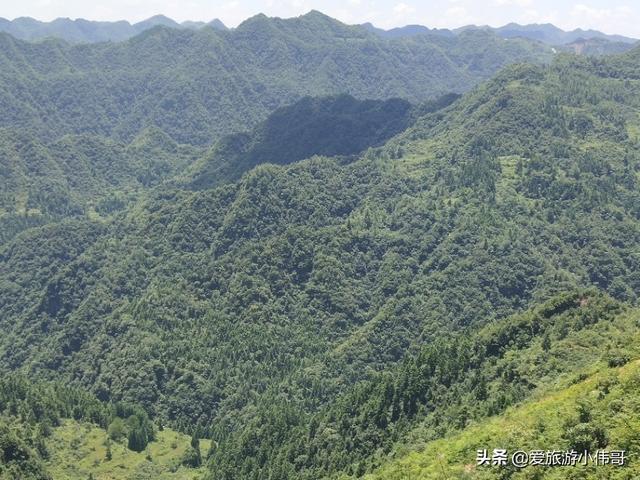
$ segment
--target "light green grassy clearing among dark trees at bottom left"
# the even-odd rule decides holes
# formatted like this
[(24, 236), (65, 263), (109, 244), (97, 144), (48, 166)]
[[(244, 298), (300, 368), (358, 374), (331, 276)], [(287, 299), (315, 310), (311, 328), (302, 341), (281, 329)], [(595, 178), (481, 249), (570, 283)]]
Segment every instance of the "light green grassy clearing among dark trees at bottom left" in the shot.
[[(65, 421), (54, 429), (47, 440), (51, 457), (47, 470), (55, 480), (85, 480), (89, 474), (95, 480), (168, 480), (196, 479), (204, 469), (179, 467), (178, 464), (189, 446), (190, 438), (171, 429), (157, 434), (146, 452), (137, 453), (126, 448), (126, 440), (112, 442), (112, 459), (106, 460), (107, 432), (89, 423)], [(210, 441), (200, 440), (203, 455), (209, 450)], [(150, 454), (151, 461), (147, 459)]]

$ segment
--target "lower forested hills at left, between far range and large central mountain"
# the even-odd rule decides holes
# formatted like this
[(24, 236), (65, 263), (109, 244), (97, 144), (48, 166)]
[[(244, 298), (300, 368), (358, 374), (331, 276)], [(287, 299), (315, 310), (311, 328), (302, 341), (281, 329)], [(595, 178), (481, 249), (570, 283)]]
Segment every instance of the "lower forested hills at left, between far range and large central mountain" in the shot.
[(90, 134), (47, 144), (0, 130), (0, 244), (30, 226), (122, 210), (200, 155), (153, 127), (128, 144)]

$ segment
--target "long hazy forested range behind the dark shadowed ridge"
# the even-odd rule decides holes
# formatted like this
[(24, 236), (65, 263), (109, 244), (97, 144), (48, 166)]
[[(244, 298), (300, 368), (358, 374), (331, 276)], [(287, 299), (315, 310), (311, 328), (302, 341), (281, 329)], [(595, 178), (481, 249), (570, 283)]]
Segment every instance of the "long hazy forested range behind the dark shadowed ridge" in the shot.
[(0, 34), (0, 127), (131, 141), (160, 128), (178, 143), (246, 131), (304, 96), (412, 103), (462, 92), (549, 47), (489, 32), (383, 39), (311, 12), (253, 17), (232, 31), (156, 27), (119, 43), (27, 43)]

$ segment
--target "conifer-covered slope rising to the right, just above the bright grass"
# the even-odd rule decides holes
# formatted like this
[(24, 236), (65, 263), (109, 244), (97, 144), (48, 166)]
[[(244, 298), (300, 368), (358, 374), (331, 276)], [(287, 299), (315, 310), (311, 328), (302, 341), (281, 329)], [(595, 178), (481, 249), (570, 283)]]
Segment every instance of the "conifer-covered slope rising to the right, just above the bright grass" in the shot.
[[(286, 408), (286, 398), (274, 396), (240, 435), (223, 434), (212, 453), (215, 467), (208, 478), (247, 478), (256, 472), (277, 478), (361, 478), (381, 463), (392, 468), (383, 467), (376, 478), (413, 478), (412, 471), (432, 450), (411, 456), (413, 469), (397, 468), (394, 456), (430, 440), (455, 436), (466, 425), (482, 423), (526, 398), (565, 388), (594, 369), (605, 370), (637, 357), (637, 315), (593, 292), (576, 292), (479, 331), (440, 337), (313, 416), (278, 414), (278, 409)], [(572, 415), (558, 413), (558, 422), (575, 426)], [(539, 417), (533, 416), (527, 423), (536, 420)], [(477, 428), (470, 430), (476, 434), (469, 438), (474, 445), (488, 441), (477, 436)], [(582, 438), (588, 439), (589, 433)], [(633, 438), (633, 433), (629, 435)], [(512, 440), (506, 444), (509, 448), (516, 445)], [(475, 450), (465, 447), (466, 457), (447, 451), (456, 473), (475, 458)], [(632, 448), (629, 455), (636, 451)], [(254, 460), (260, 458), (267, 460), (256, 465)], [(425, 473), (441, 475), (440, 462), (437, 457), (429, 459)], [(479, 478), (503, 478), (478, 473)]]

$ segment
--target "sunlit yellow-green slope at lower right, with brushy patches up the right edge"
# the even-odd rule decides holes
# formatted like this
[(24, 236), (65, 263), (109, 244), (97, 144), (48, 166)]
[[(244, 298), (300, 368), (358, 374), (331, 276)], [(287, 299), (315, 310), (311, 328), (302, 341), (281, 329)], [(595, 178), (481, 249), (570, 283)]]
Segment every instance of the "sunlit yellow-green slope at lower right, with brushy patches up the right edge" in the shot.
[[(504, 414), (471, 423), (465, 429), (444, 438), (420, 442), (420, 428), (412, 435), (413, 444), (396, 450), (394, 459), (384, 463), (367, 480), (427, 479), (632, 479), (639, 478), (640, 464), (640, 360), (621, 368), (609, 368), (606, 355), (595, 346), (603, 336), (616, 338), (615, 343), (637, 355), (640, 336), (627, 330), (637, 327), (640, 312), (628, 312), (611, 323), (553, 347), (554, 359), (582, 359), (582, 370), (557, 379), (546, 378), (530, 400), (509, 408)], [(620, 328), (622, 325), (627, 327)], [(594, 349), (595, 348), (595, 349)], [(552, 350), (552, 351), (553, 351)], [(526, 367), (535, 352), (523, 354)], [(576, 375), (577, 374), (577, 375)], [(476, 468), (477, 449), (507, 448), (515, 450), (568, 450), (565, 435), (576, 422), (580, 405), (586, 405), (593, 424), (603, 425), (608, 434), (608, 450), (626, 450), (629, 462), (625, 468), (576, 467), (542, 469), (529, 467), (508, 473), (504, 469)]]

